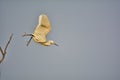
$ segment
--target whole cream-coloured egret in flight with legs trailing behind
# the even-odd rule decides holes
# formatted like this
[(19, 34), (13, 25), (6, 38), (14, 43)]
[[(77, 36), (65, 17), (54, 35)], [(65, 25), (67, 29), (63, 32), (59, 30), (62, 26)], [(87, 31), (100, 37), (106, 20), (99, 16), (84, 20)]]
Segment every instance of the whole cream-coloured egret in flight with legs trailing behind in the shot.
[(39, 16), (39, 23), (35, 28), (34, 32), (32, 34), (24, 33), (23, 37), (31, 36), (31, 38), (27, 42), (27, 46), (30, 44), (32, 38), (35, 42), (40, 43), (44, 46), (50, 46), (50, 45), (58, 46), (58, 44), (56, 44), (53, 40), (47, 40), (46, 37), (50, 31), (51, 31), (50, 21), (47, 15), (42, 14)]

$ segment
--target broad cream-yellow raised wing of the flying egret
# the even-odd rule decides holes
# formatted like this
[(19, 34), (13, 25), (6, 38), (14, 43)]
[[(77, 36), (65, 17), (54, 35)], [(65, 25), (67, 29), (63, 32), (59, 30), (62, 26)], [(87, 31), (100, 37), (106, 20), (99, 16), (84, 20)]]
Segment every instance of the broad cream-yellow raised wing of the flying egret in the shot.
[(49, 19), (46, 15), (40, 15), (39, 16), (39, 24), (35, 28), (35, 31), (33, 33), (34, 37), (33, 39), (36, 42), (46, 42), (46, 36), (51, 30), (51, 25), (49, 22)]

